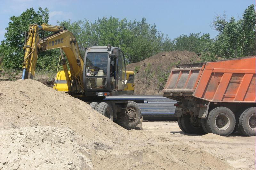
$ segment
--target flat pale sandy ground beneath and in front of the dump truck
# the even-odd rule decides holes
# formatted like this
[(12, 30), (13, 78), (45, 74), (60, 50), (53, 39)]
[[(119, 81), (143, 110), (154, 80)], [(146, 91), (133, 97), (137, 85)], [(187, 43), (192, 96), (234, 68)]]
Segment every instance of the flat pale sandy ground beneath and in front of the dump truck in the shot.
[[(169, 145), (177, 141), (210, 153), (233, 168), (255, 169), (255, 136), (244, 137), (238, 132), (229, 137), (212, 133), (191, 135), (182, 132), (177, 122), (143, 122), (143, 131), (152, 137), (163, 138)], [(218, 166), (217, 169), (224, 169), (221, 164)]]

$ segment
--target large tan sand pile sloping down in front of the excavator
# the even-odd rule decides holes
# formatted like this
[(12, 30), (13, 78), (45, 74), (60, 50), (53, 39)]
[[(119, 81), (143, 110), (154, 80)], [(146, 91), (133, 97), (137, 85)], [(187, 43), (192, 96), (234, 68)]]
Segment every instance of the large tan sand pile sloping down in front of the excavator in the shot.
[(37, 125), (71, 128), (93, 141), (115, 140), (126, 131), (83, 101), (38, 81), (2, 81), (0, 93), (0, 128)]

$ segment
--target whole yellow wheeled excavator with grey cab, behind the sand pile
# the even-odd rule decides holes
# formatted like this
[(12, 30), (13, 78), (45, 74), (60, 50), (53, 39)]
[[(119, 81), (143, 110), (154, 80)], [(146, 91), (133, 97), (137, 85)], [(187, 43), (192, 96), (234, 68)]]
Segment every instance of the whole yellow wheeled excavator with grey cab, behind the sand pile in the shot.
[[(42, 31), (53, 32), (39, 37)], [(106, 96), (134, 93), (134, 72), (126, 71), (123, 51), (118, 47), (92, 46), (82, 58), (74, 34), (63, 26), (30, 25), (24, 45), (22, 79), (33, 79), (39, 51), (60, 48), (63, 70), (57, 73), (54, 89), (89, 103), (125, 129), (136, 127), (141, 121), (137, 103), (108, 99)], [(69, 68), (66, 59), (69, 63)]]

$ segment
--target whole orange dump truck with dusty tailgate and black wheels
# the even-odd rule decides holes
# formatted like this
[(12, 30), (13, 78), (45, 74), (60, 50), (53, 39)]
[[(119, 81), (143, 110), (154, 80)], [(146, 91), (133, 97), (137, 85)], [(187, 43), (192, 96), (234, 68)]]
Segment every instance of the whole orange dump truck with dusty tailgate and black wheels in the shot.
[(164, 97), (185, 133), (255, 136), (255, 56), (177, 65)]

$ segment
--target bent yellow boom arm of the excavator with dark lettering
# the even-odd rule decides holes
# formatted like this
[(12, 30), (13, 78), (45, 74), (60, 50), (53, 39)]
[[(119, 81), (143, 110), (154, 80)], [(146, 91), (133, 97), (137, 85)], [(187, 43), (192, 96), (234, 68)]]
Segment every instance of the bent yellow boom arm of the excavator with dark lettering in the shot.
[[(52, 31), (52, 35), (39, 39), (39, 32)], [(33, 79), (36, 70), (36, 61), (38, 51), (60, 48), (66, 54), (70, 66), (70, 77), (67, 65), (62, 55), (62, 65), (68, 83), (68, 91), (72, 91), (71, 86), (77, 86), (75, 89), (83, 90), (83, 65), (76, 38), (72, 32), (65, 30), (64, 27), (52, 25), (30, 25), (28, 38), (25, 48), (22, 79)], [(76, 85), (74, 85), (76, 84)]]

